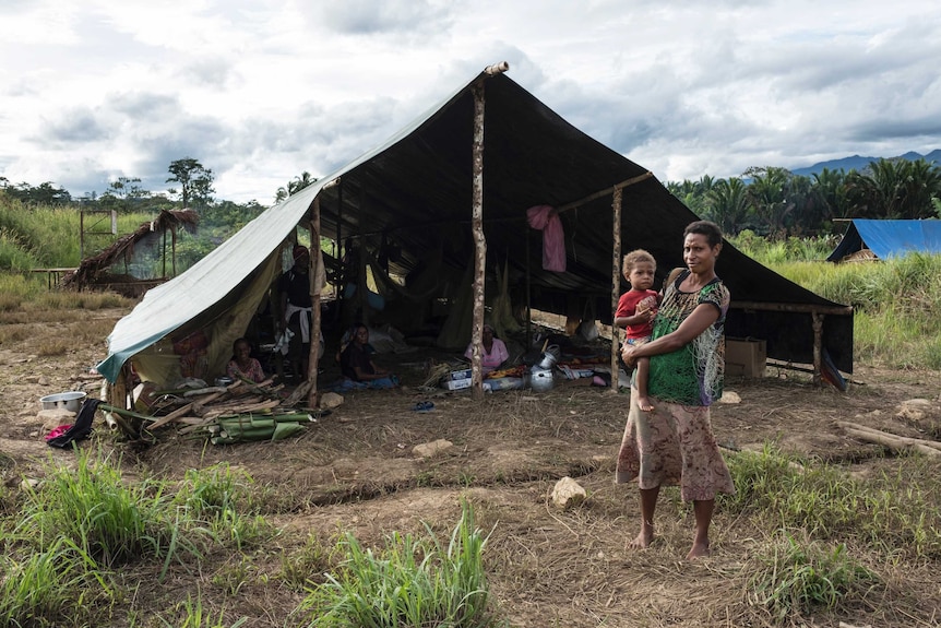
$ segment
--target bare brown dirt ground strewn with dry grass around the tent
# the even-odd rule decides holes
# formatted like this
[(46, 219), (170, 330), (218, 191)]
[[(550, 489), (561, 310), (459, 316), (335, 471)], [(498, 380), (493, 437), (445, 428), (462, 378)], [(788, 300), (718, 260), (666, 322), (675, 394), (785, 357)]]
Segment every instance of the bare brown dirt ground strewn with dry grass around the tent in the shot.
[[(0, 343), (0, 474), (8, 487), (39, 477), (49, 457), (68, 462), (74, 453), (49, 448), (37, 419), (39, 398), (84, 387), (97, 395), (99, 380), (90, 367), (105, 355), (103, 340), (123, 311), (59, 317), (8, 317)], [(38, 317), (41, 319), (41, 317)], [(98, 341), (91, 341), (94, 329)], [(59, 340), (57, 340), (59, 339)], [(60, 354), (56, 342), (64, 343)], [(49, 347), (53, 347), (49, 349)], [(45, 347), (45, 348), (44, 348)], [(676, 494), (665, 490), (657, 516), (658, 542), (644, 552), (626, 549), (636, 532), (634, 486), (612, 484), (615, 454), (626, 418), (627, 398), (608, 389), (559, 382), (545, 393), (502, 391), (475, 402), (466, 392), (419, 392), (418, 354), (398, 360), (402, 390), (360, 391), (312, 424), (299, 438), (236, 446), (212, 446), (158, 430), (150, 447), (131, 447), (109, 433), (100, 416), (84, 447), (116, 449), (129, 474), (179, 478), (189, 469), (226, 461), (271, 490), (265, 518), (283, 530), (282, 552), (303, 545), (310, 534), (335, 537), (353, 531), (366, 544), (380, 544), (392, 531), (421, 532), (422, 522), (448, 534), (460, 518), (460, 500), (475, 506), (477, 524), (492, 530), (485, 559), (500, 613), (512, 626), (765, 626), (763, 611), (751, 607), (743, 582), (755, 530), (719, 507), (711, 558), (683, 560), (692, 520)], [(392, 364), (392, 356), (386, 364)], [(394, 365), (393, 365), (394, 366)], [(729, 379), (727, 391), (740, 403), (714, 406), (720, 445), (760, 449), (773, 442), (807, 464), (838, 464), (867, 477), (891, 472), (895, 458), (884, 447), (848, 436), (837, 425), (849, 420), (894, 434), (939, 439), (941, 372), (859, 369), (846, 393), (817, 388), (809, 377), (770, 368), (759, 380)], [(924, 399), (920, 416), (900, 415), (903, 402)], [(430, 400), (432, 412), (412, 411)], [(453, 448), (418, 459), (416, 445), (446, 439)], [(558, 510), (550, 494), (563, 476), (587, 491), (580, 507)], [(258, 556), (251, 569), (240, 557), (206, 558), (201, 574), (180, 572), (157, 583), (153, 572), (134, 602), (140, 608), (167, 608), (195, 591), (204, 601), (245, 616), (248, 626), (284, 626), (302, 593), (275, 584), (277, 556)], [(939, 626), (941, 577), (937, 562), (880, 565), (897, 599), (805, 618), (813, 626)], [(240, 570), (233, 591), (221, 574)], [(228, 613), (228, 612), (227, 612)], [(227, 615), (228, 617), (229, 615)], [(234, 619), (233, 619), (234, 620)], [(115, 625), (123, 625), (116, 620)]]

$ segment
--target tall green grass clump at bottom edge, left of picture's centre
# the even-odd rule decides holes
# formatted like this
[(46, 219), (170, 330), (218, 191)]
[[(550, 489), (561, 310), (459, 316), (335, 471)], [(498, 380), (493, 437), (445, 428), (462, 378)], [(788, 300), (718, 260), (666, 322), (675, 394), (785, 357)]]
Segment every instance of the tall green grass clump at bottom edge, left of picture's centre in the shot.
[(426, 524), (427, 538), (393, 533), (379, 552), (365, 549), (350, 534), (336, 574), (317, 586), (301, 608), (309, 626), (389, 628), (498, 625), (489, 608), (483, 564), (486, 537), (474, 528), (469, 503), (444, 548)]

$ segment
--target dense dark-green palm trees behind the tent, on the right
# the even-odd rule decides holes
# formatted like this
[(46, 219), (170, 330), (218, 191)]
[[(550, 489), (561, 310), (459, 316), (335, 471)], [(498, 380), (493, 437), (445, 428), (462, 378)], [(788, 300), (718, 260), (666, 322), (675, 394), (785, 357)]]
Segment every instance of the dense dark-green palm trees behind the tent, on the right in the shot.
[(750, 229), (786, 239), (829, 234), (836, 218), (941, 217), (941, 168), (925, 159), (879, 159), (862, 170), (824, 168), (810, 177), (753, 167), (741, 177), (706, 175), (666, 187), (730, 235)]

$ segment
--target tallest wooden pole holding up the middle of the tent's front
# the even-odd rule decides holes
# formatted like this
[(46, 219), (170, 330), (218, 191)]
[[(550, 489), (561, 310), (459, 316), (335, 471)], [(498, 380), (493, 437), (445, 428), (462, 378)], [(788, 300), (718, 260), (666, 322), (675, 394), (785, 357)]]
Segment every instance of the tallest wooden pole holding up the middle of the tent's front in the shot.
[(474, 85), (474, 142), (472, 146), (474, 180), (470, 204), (470, 233), (474, 237), (474, 318), (470, 357), (473, 381), (470, 396), (484, 399), (484, 377), (480, 368), (484, 335), (484, 284), (487, 268), (487, 239), (484, 237), (484, 83)]

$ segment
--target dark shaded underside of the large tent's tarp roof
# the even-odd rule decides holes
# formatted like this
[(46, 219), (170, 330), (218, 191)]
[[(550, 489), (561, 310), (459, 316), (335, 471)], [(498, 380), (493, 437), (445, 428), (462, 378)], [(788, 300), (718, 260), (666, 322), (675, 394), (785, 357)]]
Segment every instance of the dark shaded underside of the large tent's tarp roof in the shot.
[[(416, 251), (434, 249), (441, 237), (460, 225), (463, 246), (445, 251), (444, 263), (455, 268), (473, 263), (472, 87), (477, 80), (434, 109), (413, 132), (346, 170), (340, 186), (321, 193), (324, 235), (384, 234), (401, 247), (401, 263), (407, 271), (416, 261), (412, 257)], [(523, 285), (528, 273), (536, 309), (565, 313), (576, 295), (594, 299), (597, 319), (610, 324), (611, 194), (560, 214), (568, 253), (565, 273), (541, 269), (541, 233), (527, 226), (526, 209), (563, 206), (647, 170), (571, 126), (507, 75), (485, 80), (485, 98), (488, 265), (509, 260), (511, 285)], [(682, 232), (698, 216), (659, 181), (650, 177), (626, 187), (621, 212), (622, 253), (634, 248), (648, 250), (662, 277), (682, 265)], [(453, 244), (453, 238), (449, 241)], [(782, 277), (728, 244), (717, 273), (734, 301), (727, 335), (766, 340), (770, 357), (811, 364), (810, 310), (843, 309), (843, 316), (824, 318), (823, 347), (841, 370), (851, 372), (853, 316), (847, 308)], [(622, 289), (627, 287), (622, 285)], [(767, 309), (741, 309), (736, 301), (763, 304)]]

